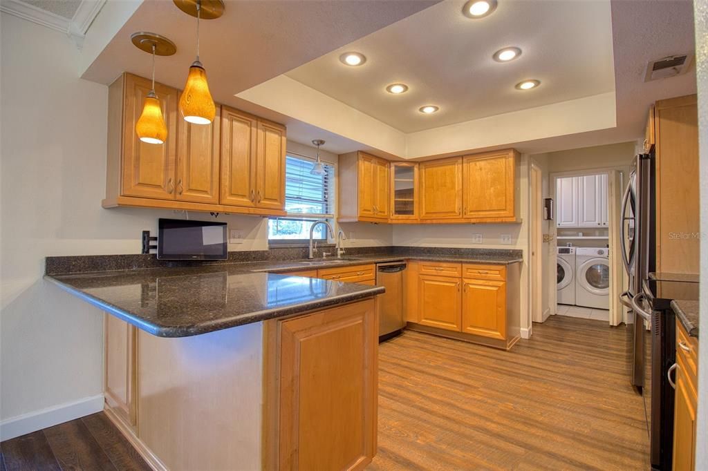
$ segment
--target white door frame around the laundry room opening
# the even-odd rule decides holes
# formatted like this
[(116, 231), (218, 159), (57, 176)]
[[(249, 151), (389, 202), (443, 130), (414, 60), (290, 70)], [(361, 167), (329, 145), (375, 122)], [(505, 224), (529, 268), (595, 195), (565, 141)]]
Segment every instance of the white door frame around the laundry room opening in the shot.
[[(627, 274), (622, 269), (622, 254), (619, 252), (619, 218), (622, 206), (622, 190), (624, 190), (624, 182), (629, 178), (629, 164), (616, 165), (614, 167), (601, 168), (583, 168), (579, 170), (566, 170), (561, 172), (549, 173), (549, 193), (556, 201), (556, 180), (565, 177), (582, 177), (585, 175), (598, 175), (600, 173), (607, 174), (607, 245), (610, 247), (610, 315), (609, 325), (617, 326), (625, 322), (624, 310), (622, 304), (619, 303), (618, 295), (624, 291), (623, 287), (627, 285)], [(554, 208), (555, 209), (555, 208)], [(553, 223), (550, 224), (549, 233), (552, 238), (552, 250), (554, 254), (558, 252), (558, 228), (556, 227), (555, 214), (553, 215)], [(548, 282), (553, 282), (555, 286), (554, 270), (549, 270)], [(558, 297), (554, 294), (553, 313), (558, 312)]]

